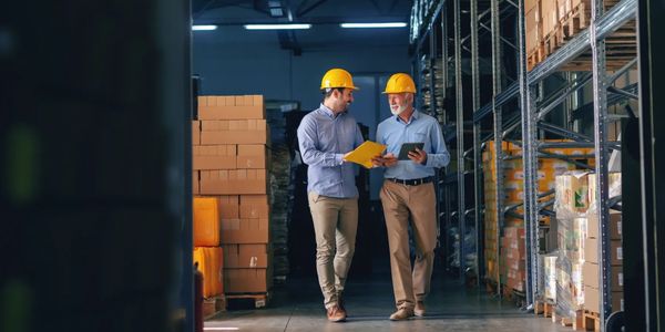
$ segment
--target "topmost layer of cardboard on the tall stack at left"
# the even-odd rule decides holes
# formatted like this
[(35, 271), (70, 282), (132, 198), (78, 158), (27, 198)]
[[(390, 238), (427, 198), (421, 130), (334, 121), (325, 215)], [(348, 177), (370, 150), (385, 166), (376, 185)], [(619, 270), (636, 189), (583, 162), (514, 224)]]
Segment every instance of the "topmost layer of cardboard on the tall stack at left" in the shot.
[[(200, 120), (265, 118), (266, 108), (262, 95), (200, 96)], [(202, 103), (202, 101), (205, 101)]]

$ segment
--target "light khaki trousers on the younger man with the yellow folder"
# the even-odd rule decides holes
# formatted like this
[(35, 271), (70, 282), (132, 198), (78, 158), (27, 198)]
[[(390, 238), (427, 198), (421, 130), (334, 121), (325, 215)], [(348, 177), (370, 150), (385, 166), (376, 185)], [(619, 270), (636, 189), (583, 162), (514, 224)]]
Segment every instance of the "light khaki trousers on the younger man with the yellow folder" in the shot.
[(326, 309), (337, 304), (356, 250), (358, 198), (308, 193), (316, 234), (316, 271)]

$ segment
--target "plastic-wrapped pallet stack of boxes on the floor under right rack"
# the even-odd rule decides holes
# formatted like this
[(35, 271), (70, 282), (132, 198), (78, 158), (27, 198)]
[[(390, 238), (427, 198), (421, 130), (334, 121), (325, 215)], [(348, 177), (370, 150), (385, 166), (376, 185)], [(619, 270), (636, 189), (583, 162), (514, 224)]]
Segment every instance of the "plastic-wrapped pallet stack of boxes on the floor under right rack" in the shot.
[[(611, 196), (621, 193), (621, 174), (610, 176)], [(581, 321), (584, 310), (598, 312), (598, 222), (595, 214), (595, 175), (584, 170), (556, 177), (556, 313)], [(611, 215), (613, 302), (623, 308), (621, 214)], [(620, 287), (621, 284), (621, 287)]]

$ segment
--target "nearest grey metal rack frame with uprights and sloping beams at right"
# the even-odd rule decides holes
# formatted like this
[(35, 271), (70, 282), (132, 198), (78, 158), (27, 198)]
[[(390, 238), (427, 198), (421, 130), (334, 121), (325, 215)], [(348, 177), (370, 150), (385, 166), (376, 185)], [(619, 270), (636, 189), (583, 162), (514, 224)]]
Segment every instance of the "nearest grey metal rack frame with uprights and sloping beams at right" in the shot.
[[(497, 12), (494, 3), (498, 0), (492, 0), (493, 13)], [(512, 2), (511, 2), (512, 3)], [(510, 85), (507, 90), (501, 93), (494, 94), (491, 103), (477, 108), (473, 120), (474, 124), (479, 123), (484, 116), (490, 113), (494, 114), (495, 125), (494, 135), (497, 141), (503, 141), (504, 136), (516, 126), (511, 126), (507, 131), (497, 128), (497, 125), (501, 125), (501, 121), (497, 121), (497, 115), (500, 115), (498, 107), (504, 105), (511, 98), (519, 98), (521, 112), (521, 128), (522, 128), (522, 143), (523, 143), (523, 167), (524, 167), (524, 221), (526, 228), (526, 303), (533, 304), (535, 298), (540, 294), (538, 287), (538, 236), (539, 236), (539, 215), (543, 212), (544, 206), (539, 205), (536, 195), (536, 172), (538, 172), (538, 157), (539, 151), (544, 146), (552, 146), (552, 144), (545, 145), (538, 141), (538, 129), (546, 129), (550, 132), (557, 133), (564, 137), (582, 141), (593, 142), (595, 149), (595, 172), (598, 175), (597, 187), (598, 196), (596, 201), (598, 206), (598, 218), (601, 225), (601, 241), (598, 252), (600, 266), (603, 271), (601, 273), (601, 288), (600, 292), (601, 303), (603, 310), (601, 310), (601, 324), (604, 329), (605, 322), (611, 314), (613, 308), (611, 308), (611, 293), (608, 292), (610, 284), (610, 272), (608, 272), (608, 235), (607, 235), (607, 218), (608, 218), (608, 149), (616, 148), (615, 143), (607, 142), (607, 89), (613, 82), (628, 69), (631, 69), (636, 61), (631, 61), (624, 65), (621, 70), (615, 72), (613, 75), (606, 74), (605, 65), (605, 38), (616, 31), (618, 28), (627, 23), (630, 20), (635, 19), (637, 10), (636, 0), (623, 0), (613, 7), (607, 13), (603, 13), (602, 0), (593, 1), (592, 10), (592, 23), (590, 27), (580, 32), (569, 42), (566, 42), (560, 50), (555, 51), (551, 56), (541, 62), (530, 72), (526, 71), (526, 54), (524, 46), (524, 1), (520, 0), (515, 3), (519, 7), (520, 14), (518, 15), (518, 31), (520, 39), (519, 48), (519, 80)], [(497, 33), (499, 34), (499, 33)], [(550, 103), (543, 104), (536, 97), (539, 95), (539, 84), (549, 75), (553, 74), (563, 64), (574, 60), (585, 50), (591, 46), (592, 50), (592, 71), (590, 75), (582, 75), (577, 80), (570, 82), (564, 89), (557, 92), (555, 97), (550, 98)], [(493, 52), (495, 54), (495, 52)], [(472, 62), (473, 63), (473, 62)], [(593, 141), (582, 134), (573, 131), (557, 127), (543, 122), (544, 115), (551, 112), (556, 105), (564, 102), (567, 96), (576, 92), (579, 89), (584, 86), (589, 81), (593, 82), (594, 91), (594, 137)], [(615, 91), (613, 91), (615, 92)], [(542, 94), (542, 92), (540, 92)], [(621, 97), (635, 97), (634, 94), (627, 91), (615, 92)], [(620, 98), (615, 98), (616, 101)], [(560, 145), (566, 145), (564, 143)], [(570, 145), (570, 144), (569, 144)], [(497, 155), (499, 156), (500, 144), (495, 144), (498, 147)], [(480, 145), (475, 144), (475, 148), (479, 149)], [(498, 160), (501, 158), (497, 157)], [(500, 163), (500, 162), (499, 162)], [(499, 165), (497, 169), (500, 172)], [(498, 176), (500, 178), (500, 176)], [(478, 186), (478, 184), (477, 184)], [(498, 185), (500, 187), (500, 185)], [(500, 203), (497, 207), (498, 211), (501, 209)], [(499, 212), (501, 215), (501, 212)], [(500, 218), (498, 219), (500, 220)], [(615, 309), (616, 311), (616, 309)]]

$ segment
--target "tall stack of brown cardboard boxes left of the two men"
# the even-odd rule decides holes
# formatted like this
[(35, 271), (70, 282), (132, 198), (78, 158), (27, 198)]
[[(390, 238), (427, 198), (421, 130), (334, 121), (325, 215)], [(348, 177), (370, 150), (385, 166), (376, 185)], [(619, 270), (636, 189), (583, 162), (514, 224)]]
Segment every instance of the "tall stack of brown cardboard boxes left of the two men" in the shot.
[(266, 294), (272, 287), (269, 128), (262, 95), (198, 97), (194, 189), (219, 203), (224, 291)]

